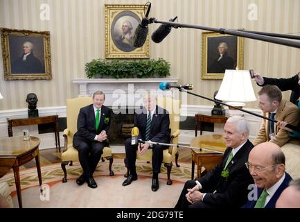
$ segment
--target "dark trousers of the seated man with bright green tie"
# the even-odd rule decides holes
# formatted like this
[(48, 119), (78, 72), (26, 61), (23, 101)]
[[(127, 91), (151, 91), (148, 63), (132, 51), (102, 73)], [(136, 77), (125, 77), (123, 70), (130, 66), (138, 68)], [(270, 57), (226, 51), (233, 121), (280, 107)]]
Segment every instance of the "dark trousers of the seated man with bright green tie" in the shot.
[(93, 173), (98, 165), (101, 155), (103, 154), (103, 148), (105, 144), (102, 142), (80, 142), (76, 147), (78, 150), (78, 157), (83, 174), (85, 177), (93, 176)]

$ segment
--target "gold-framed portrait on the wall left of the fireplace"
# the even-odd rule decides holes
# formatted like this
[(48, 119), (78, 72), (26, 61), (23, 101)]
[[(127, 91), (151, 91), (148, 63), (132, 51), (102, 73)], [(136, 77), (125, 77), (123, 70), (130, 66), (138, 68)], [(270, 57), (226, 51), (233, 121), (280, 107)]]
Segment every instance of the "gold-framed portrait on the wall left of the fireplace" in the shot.
[(4, 79), (50, 80), (50, 32), (1, 28)]

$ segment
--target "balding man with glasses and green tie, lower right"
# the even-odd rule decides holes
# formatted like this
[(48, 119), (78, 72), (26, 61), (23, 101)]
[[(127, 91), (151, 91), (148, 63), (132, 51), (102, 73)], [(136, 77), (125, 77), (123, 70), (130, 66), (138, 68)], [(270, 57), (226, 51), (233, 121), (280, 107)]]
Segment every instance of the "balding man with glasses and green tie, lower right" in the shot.
[(248, 194), (245, 208), (275, 208), (276, 200), (292, 178), (285, 172), (285, 156), (281, 148), (265, 142), (255, 146), (246, 163), (255, 185)]

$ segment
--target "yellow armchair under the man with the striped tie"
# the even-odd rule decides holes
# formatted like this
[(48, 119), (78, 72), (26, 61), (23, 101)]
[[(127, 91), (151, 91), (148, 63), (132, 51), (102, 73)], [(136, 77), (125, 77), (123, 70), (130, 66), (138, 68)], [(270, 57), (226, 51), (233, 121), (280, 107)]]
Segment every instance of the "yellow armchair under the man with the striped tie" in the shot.
[[(159, 105), (161, 108), (166, 109), (169, 112), (170, 130), (171, 130), (170, 144), (177, 144), (178, 136), (180, 134), (179, 121), (180, 121), (181, 101), (172, 99), (170, 97), (158, 97), (157, 105)], [(176, 167), (180, 167), (178, 165), (178, 157), (179, 157), (179, 153), (176, 146), (170, 146), (168, 149), (164, 150), (163, 163), (164, 166), (167, 168), (167, 176), (168, 176), (167, 185), (172, 185), (172, 180), (170, 179), (170, 173), (173, 166), (172, 161), (175, 159)], [(147, 162), (151, 162), (152, 149), (146, 151), (144, 155), (139, 155), (139, 151), (136, 151), (136, 160), (145, 160)], [(127, 173), (125, 174), (125, 176), (127, 176), (128, 173), (129, 173), (129, 169), (127, 169)]]

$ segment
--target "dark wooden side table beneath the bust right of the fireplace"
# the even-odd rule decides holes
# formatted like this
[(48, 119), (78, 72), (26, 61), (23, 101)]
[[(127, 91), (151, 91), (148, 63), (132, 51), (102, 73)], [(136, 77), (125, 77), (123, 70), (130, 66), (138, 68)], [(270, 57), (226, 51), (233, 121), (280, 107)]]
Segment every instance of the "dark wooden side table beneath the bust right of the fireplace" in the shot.
[(229, 116), (222, 115), (222, 116), (215, 116), (211, 114), (195, 114), (195, 137), (197, 137), (198, 131), (198, 123), (200, 126), (200, 135), (202, 135), (203, 131), (203, 122), (206, 123), (226, 123)]

